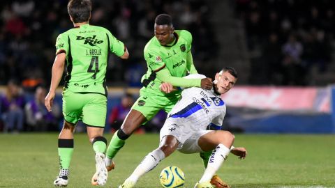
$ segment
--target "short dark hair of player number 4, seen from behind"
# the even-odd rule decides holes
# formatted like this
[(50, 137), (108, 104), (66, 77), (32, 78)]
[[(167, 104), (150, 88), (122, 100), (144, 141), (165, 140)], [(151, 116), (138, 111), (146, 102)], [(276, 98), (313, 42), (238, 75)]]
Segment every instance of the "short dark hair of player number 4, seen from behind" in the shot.
[(70, 0), (68, 2), (68, 14), (73, 22), (88, 22), (91, 16), (92, 3), (90, 0)]

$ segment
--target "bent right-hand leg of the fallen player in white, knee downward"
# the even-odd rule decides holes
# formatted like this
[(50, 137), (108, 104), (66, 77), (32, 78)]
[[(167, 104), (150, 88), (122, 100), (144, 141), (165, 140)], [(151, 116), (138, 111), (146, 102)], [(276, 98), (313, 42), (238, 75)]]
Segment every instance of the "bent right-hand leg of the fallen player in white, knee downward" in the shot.
[[(228, 131), (211, 131), (200, 137), (198, 144), (204, 151), (214, 151), (209, 157), (207, 168), (199, 181), (199, 184), (208, 184), (220, 168), (221, 164), (227, 159), (230, 153), (230, 147), (234, 142), (234, 135)], [(216, 185), (216, 187), (229, 187), (223, 182), (223, 185)]]

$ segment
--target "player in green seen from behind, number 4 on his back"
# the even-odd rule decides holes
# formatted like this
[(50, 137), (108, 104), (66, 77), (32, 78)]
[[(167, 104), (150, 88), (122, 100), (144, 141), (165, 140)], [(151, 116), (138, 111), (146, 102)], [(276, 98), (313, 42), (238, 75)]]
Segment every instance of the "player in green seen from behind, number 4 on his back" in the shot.
[(73, 155), (73, 132), (79, 120), (87, 125), (87, 134), (96, 153), (96, 185), (105, 185), (107, 169), (103, 137), (107, 111), (107, 87), (105, 74), (108, 54), (128, 58), (123, 42), (100, 26), (89, 25), (90, 0), (70, 0), (68, 14), (74, 28), (61, 33), (56, 41), (56, 57), (52, 65), (50, 91), (45, 97), (45, 107), (51, 111), (55, 90), (67, 65), (63, 90), (64, 125), (59, 134), (59, 177), (55, 186), (68, 185), (68, 169)]

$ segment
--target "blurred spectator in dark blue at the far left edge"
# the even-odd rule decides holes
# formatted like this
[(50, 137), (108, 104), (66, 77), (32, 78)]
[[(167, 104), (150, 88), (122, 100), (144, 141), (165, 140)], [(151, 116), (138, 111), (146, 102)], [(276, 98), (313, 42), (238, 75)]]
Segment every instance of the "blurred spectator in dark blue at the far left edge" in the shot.
[(0, 104), (4, 132), (22, 132), (25, 100), (22, 90), (15, 80), (8, 81), (6, 95), (1, 96)]

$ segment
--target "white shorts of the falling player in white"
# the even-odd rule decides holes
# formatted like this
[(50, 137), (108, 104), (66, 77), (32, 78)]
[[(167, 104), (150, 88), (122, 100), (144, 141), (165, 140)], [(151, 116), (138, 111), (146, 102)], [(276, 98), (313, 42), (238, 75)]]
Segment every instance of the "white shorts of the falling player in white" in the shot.
[(176, 121), (172, 121), (168, 118), (160, 132), (160, 145), (162, 144), (161, 141), (164, 136), (172, 135), (179, 141), (179, 146), (177, 148), (179, 152), (203, 152), (199, 146), (199, 139), (201, 136), (209, 132), (212, 132), (212, 130), (198, 130), (194, 127), (190, 127), (189, 125), (185, 125), (185, 123), (177, 123)]

